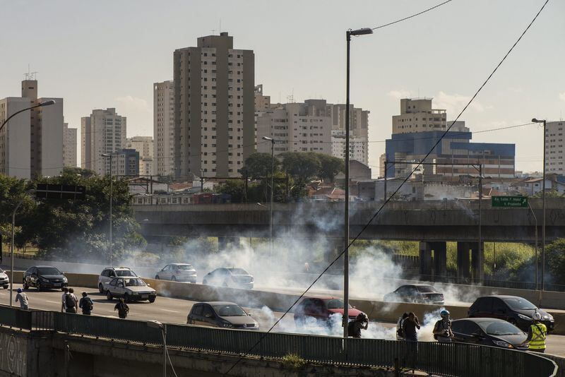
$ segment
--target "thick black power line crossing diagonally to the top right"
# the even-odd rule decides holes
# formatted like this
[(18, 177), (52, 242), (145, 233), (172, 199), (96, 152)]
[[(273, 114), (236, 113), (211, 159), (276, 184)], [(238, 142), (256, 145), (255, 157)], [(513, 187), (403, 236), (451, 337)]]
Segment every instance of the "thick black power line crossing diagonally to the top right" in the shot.
[[(271, 330), (273, 330), (273, 328), (275, 328), (276, 325), (278, 325), (278, 323), (280, 323), (280, 321), (283, 320), (283, 318), (290, 312), (290, 310), (296, 305), (298, 304), (298, 302), (302, 299), (302, 297), (304, 297), (305, 294), (307, 294), (307, 292), (311, 289), (311, 287), (314, 287), (314, 284), (316, 284), (316, 282), (318, 282), (318, 280), (321, 279), (321, 277), (323, 276), (323, 274), (325, 274), (332, 265), (335, 264), (335, 262), (339, 261), (339, 259), (343, 256), (343, 253), (345, 253), (345, 251), (347, 251), (347, 249), (349, 249), (351, 247), (351, 245), (357, 241), (357, 239), (359, 239), (359, 237), (361, 236), (361, 234), (363, 234), (363, 232), (367, 229), (367, 227), (369, 227), (369, 225), (371, 225), (371, 222), (373, 222), (373, 220), (381, 213), (381, 211), (383, 210), (383, 208), (388, 204), (389, 201), (391, 201), (391, 198), (393, 198), (395, 196), (396, 193), (398, 193), (398, 191), (400, 191), (400, 188), (402, 186), (404, 186), (404, 184), (408, 181), (408, 179), (410, 179), (410, 176), (412, 176), (412, 174), (414, 174), (414, 172), (416, 172), (416, 170), (420, 167), (420, 164), (422, 162), (424, 162), (424, 160), (427, 159), (427, 157), (429, 157), (429, 155), (432, 154), (432, 152), (434, 151), (434, 149), (436, 148), (437, 145), (439, 145), (439, 143), (441, 142), (441, 140), (447, 135), (447, 133), (449, 132), (449, 130), (451, 129), (451, 127), (453, 126), (453, 124), (456, 123), (456, 121), (458, 121), (458, 119), (460, 118), (460, 116), (463, 114), (463, 112), (465, 112), (465, 110), (470, 106), (470, 104), (475, 100), (475, 98), (477, 97), (477, 95), (479, 95), (479, 93), (481, 92), (482, 88), (484, 88), (485, 85), (487, 85), (487, 83), (489, 82), (489, 80), (492, 78), (492, 76), (494, 76), (494, 73), (496, 73), (496, 71), (498, 71), (498, 68), (502, 65), (502, 63), (504, 63), (504, 61), (506, 60), (506, 58), (510, 55), (510, 53), (513, 51), (514, 47), (516, 47), (516, 45), (518, 44), (518, 42), (520, 42), (522, 40), (522, 37), (525, 35), (526, 32), (528, 32), (528, 30), (530, 29), (530, 27), (533, 25), (533, 23), (535, 22), (535, 20), (537, 20), (537, 17), (540, 16), (540, 13), (542, 13), (543, 9), (545, 8), (545, 6), (547, 5), (547, 3), (549, 2), (549, 0), (546, 0), (545, 3), (542, 5), (542, 7), (540, 8), (540, 10), (536, 13), (536, 15), (534, 16), (533, 20), (528, 24), (528, 27), (525, 28), (525, 30), (522, 32), (522, 34), (520, 35), (520, 37), (518, 37), (518, 40), (516, 40), (516, 42), (514, 42), (514, 44), (512, 45), (512, 47), (509, 49), (508, 52), (506, 52), (506, 54), (504, 55), (504, 57), (501, 59), (501, 61), (499, 61), (499, 64), (496, 65), (496, 67), (494, 67), (494, 70), (489, 74), (489, 76), (487, 77), (486, 80), (484, 80), (484, 82), (482, 83), (482, 85), (480, 85), (480, 87), (477, 89), (477, 91), (475, 92), (475, 95), (473, 95), (469, 102), (467, 104), (465, 104), (465, 107), (463, 107), (463, 109), (460, 111), (460, 113), (458, 114), (457, 118), (451, 122), (451, 125), (446, 129), (446, 131), (444, 132), (443, 136), (441, 136), (441, 138), (439, 140), (437, 140), (437, 142), (434, 144), (434, 146), (429, 150), (429, 152), (427, 152), (427, 154), (425, 155), (424, 158), (422, 158), (421, 162), (418, 163), (416, 165), (416, 167), (414, 169), (412, 169), (412, 172), (410, 172), (410, 174), (408, 174), (408, 176), (406, 176), (406, 178), (403, 180), (403, 182), (398, 186), (398, 188), (396, 188), (396, 190), (393, 192), (393, 194), (386, 199), (386, 201), (381, 205), (381, 207), (379, 208), (379, 210), (376, 211), (376, 213), (374, 213), (374, 215), (371, 217), (371, 219), (369, 219), (369, 222), (367, 222), (367, 224), (365, 224), (363, 226), (363, 228), (359, 231), (359, 233), (357, 233), (357, 235), (349, 242), (349, 244), (347, 244), (347, 247), (345, 249), (343, 249), (343, 251), (341, 251), (337, 257), (335, 257), (335, 259), (318, 275), (318, 277), (316, 277), (316, 279), (314, 279), (313, 282), (311, 282), (311, 284), (307, 287), (307, 289), (304, 290), (304, 292), (302, 292), (302, 294), (300, 294), (300, 296), (292, 303), (292, 305), (285, 311), (285, 313), (283, 313), (282, 316), (280, 316), (280, 318), (278, 318), (277, 321), (275, 321), (275, 323), (273, 323), (273, 325), (269, 328), (269, 330), (266, 331), (266, 333), (264, 333), (259, 340), (253, 345), (253, 347), (251, 347), (245, 354), (243, 354), (241, 357), (239, 357), (239, 359), (237, 359), (237, 361), (230, 367), (230, 369), (228, 369), (226, 371), (226, 373), (230, 373), (230, 371), (232, 371), (232, 369), (234, 369), (234, 367), (239, 364), (239, 361), (244, 357), (244, 355), (249, 354), (249, 352), (251, 352), (255, 347), (257, 347), (257, 345), (259, 343), (261, 343), (263, 341), (263, 339), (268, 335), (268, 333), (270, 333)], [(408, 18), (407, 18), (408, 19)], [(392, 24), (392, 23), (391, 23)], [(348, 198), (346, 198), (347, 200)], [(347, 303), (345, 302), (344, 305), (347, 305)]]

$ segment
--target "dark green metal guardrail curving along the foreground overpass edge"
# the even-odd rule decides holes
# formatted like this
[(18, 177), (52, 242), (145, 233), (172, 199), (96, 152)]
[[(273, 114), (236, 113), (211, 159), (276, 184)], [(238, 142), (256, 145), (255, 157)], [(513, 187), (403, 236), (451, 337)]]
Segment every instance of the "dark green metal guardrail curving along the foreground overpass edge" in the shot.
[[(112, 340), (161, 345), (158, 328), (145, 321), (54, 311), (25, 311), (0, 305), (0, 323), (26, 330), (105, 337)], [(260, 333), (248, 330), (166, 324), (167, 345), (230, 354), (281, 358), (298, 354), (307, 361), (332, 364), (418, 369), (440, 376), (556, 376), (554, 361), (537, 354), (463, 343), (398, 342), (378, 339), (343, 339), (317, 335)], [(259, 342), (261, 340), (261, 342)]]

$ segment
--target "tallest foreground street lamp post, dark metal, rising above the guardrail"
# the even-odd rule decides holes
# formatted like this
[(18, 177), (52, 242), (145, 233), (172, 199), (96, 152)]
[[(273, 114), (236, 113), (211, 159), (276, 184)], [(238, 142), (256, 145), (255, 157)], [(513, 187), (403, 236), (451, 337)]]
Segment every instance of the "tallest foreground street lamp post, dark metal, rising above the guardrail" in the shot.
[[(347, 325), (349, 324), (349, 87), (350, 87), (350, 44), (351, 36), (372, 34), (370, 28), (362, 28), (357, 30), (347, 30), (345, 32), (345, 40), (347, 42), (347, 64), (345, 66), (345, 210), (344, 210), (344, 244), (345, 251), (343, 253), (343, 338), (347, 340)], [(385, 177), (386, 179), (386, 177)], [(347, 342), (343, 342), (343, 350), (346, 353)]]

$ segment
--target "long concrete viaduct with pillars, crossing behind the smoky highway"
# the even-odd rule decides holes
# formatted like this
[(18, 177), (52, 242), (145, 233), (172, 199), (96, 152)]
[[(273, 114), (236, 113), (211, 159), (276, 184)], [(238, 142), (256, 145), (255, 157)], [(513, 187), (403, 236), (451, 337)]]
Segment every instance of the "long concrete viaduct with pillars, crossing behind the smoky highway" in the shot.
[[(482, 201), (482, 241), (538, 244), (542, 240), (542, 201), (530, 208), (492, 208)], [(381, 202), (351, 203), (351, 237), (361, 232)], [(141, 232), (149, 241), (167, 236), (268, 237), (269, 204), (133, 205)], [(478, 250), (477, 200), (391, 201), (359, 239), (420, 241), (420, 273), (445, 275), (446, 241), (456, 241), (459, 277), (483, 277)], [(273, 237), (326, 237), (343, 245), (343, 203), (275, 203)], [(565, 237), (565, 201), (547, 199), (546, 242)], [(484, 248), (481, 248), (482, 250)], [(432, 258), (433, 251), (433, 258)]]

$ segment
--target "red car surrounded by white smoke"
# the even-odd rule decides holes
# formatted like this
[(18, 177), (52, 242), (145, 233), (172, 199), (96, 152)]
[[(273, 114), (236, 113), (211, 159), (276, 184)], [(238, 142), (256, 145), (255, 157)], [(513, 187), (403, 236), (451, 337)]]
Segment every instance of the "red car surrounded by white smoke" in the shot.
[[(295, 324), (303, 325), (304, 319), (307, 317), (326, 322), (332, 314), (336, 313), (343, 316), (343, 299), (336, 299), (335, 297), (307, 297), (302, 299), (296, 306)], [(363, 312), (349, 305), (347, 316), (350, 321), (354, 320), (359, 313)]]

